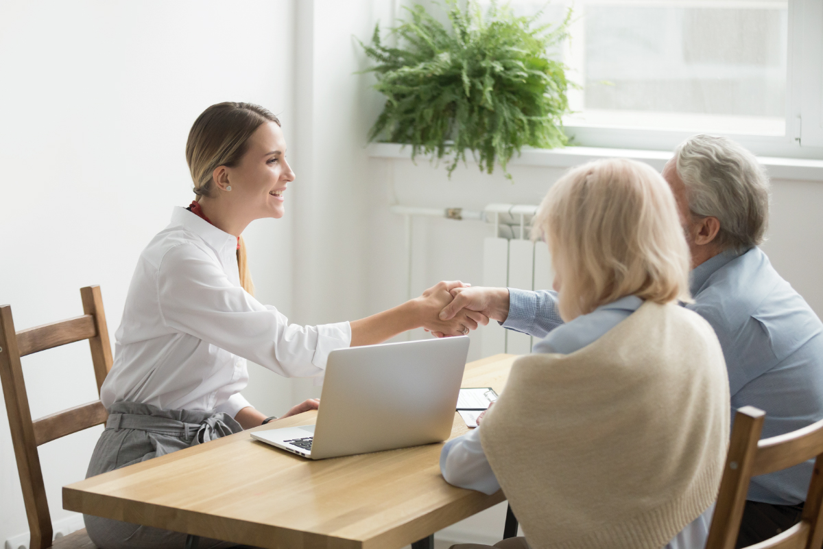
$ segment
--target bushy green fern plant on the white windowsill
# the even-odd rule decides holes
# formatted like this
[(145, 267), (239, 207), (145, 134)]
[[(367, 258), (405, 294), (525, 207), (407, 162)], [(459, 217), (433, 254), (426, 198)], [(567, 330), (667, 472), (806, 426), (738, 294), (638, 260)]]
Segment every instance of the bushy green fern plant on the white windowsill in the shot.
[[(369, 141), (405, 143), (412, 159), (453, 153), (449, 177), (471, 151), (481, 170), (495, 160), (505, 176), (524, 146), (566, 143), (561, 117), (569, 112), (565, 66), (546, 51), (568, 35), (571, 12), (557, 26), (535, 26), (540, 14), (514, 16), (492, 2), (485, 14), (469, 0), (465, 9), (446, 0), (451, 28), (416, 5), (393, 28), (397, 47), (384, 45), (375, 26), (372, 44), (360, 43), (376, 64), (374, 88), (386, 105)], [(532, 28), (534, 27), (534, 28)]]

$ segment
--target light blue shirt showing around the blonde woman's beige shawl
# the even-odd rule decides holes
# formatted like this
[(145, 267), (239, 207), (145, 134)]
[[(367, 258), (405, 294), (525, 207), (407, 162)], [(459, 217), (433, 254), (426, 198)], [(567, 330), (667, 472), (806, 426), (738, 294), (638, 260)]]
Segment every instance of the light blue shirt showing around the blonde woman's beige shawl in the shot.
[[(553, 296), (550, 295), (549, 299), (553, 299)], [(640, 305), (643, 305), (643, 300), (635, 295), (627, 295), (607, 305), (601, 305), (589, 314), (580, 315), (570, 323), (564, 324), (560, 321), (551, 331), (546, 331), (547, 337), (537, 342), (532, 352), (568, 355), (578, 351), (597, 341), (597, 338), (634, 313)], [(509, 316), (510, 311), (509, 305)], [(486, 454), (483, 453), (480, 442), (481, 428), (482, 424), (467, 435), (449, 440), (444, 445), (440, 452), (440, 472), (449, 484), (491, 495), (500, 490), (500, 484), (491, 470)], [(709, 536), (713, 513), (714, 505), (711, 505), (663, 549), (702, 549)]]

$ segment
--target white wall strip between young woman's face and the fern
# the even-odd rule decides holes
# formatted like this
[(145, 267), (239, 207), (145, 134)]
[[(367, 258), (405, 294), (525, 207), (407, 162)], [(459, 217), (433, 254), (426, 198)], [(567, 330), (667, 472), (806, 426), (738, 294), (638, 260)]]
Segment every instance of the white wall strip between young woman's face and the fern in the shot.
[[(369, 313), (365, 135), (382, 103), (370, 90), (356, 37), (371, 36), (390, 2), (298, 2), (295, 140), (294, 316), (297, 323), (353, 320)], [(398, 303), (393, 303), (398, 305)], [(292, 402), (319, 396), (292, 380)]]

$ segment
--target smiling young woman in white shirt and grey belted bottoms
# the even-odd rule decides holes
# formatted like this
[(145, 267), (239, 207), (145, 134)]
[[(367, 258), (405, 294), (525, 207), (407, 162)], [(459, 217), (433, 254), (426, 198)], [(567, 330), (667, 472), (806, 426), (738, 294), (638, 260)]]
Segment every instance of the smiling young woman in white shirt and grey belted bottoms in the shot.
[[(239, 393), (246, 359), (280, 375), (321, 377), (328, 353), (384, 342), (413, 328), (468, 333), (481, 314), (442, 321), (460, 282), (352, 322), (298, 326), (253, 297), (241, 238), (246, 226), (280, 218), (295, 174), (276, 116), (258, 105), (206, 109), (188, 135), (186, 160), (198, 200), (143, 250), (115, 334), (114, 365), (100, 391), (109, 410), (87, 477), (202, 444), (275, 418)], [(307, 400), (286, 416), (318, 407)], [(284, 416), (284, 417), (286, 417)], [(178, 548), (184, 534), (86, 515), (100, 549)], [(221, 547), (201, 540), (200, 547)]]

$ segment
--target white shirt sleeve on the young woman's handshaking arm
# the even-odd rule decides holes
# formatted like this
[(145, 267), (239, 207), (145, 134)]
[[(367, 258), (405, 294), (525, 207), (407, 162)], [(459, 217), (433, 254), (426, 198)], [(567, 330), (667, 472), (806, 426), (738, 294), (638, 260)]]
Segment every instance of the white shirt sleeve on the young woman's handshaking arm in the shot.
[(349, 347), (347, 322), (300, 326), (263, 305), (193, 244), (164, 255), (157, 274), (160, 316), (188, 333), (287, 377), (323, 375), (328, 353)]

